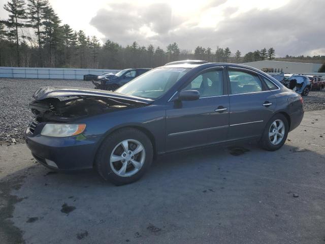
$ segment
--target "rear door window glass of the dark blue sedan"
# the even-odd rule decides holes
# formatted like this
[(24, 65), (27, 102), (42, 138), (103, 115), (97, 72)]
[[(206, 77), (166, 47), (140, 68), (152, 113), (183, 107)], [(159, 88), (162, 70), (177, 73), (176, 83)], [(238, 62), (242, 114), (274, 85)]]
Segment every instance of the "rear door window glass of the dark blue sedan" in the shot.
[(232, 94), (262, 92), (262, 82), (257, 75), (243, 71), (228, 71)]

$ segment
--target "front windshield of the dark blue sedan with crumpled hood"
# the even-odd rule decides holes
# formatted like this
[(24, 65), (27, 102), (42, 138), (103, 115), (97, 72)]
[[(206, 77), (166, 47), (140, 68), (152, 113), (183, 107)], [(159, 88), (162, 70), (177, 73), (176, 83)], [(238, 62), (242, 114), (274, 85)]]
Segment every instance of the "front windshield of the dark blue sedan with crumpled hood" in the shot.
[(158, 68), (118, 88), (115, 92), (143, 98), (156, 99), (167, 91), (190, 69)]

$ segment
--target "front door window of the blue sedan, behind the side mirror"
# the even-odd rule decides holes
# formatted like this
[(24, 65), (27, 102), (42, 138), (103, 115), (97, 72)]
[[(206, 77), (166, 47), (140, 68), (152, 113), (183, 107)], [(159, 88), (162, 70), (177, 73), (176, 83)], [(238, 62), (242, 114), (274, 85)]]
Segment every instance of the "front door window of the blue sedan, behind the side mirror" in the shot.
[(214, 70), (202, 73), (195, 77), (182, 90), (197, 90), (200, 98), (223, 95), (222, 71)]

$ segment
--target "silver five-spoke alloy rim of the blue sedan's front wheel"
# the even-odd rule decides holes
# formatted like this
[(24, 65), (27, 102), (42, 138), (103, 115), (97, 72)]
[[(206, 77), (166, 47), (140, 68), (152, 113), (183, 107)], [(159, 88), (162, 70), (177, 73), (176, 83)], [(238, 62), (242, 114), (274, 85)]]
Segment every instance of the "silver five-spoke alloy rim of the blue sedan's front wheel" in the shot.
[(110, 157), (110, 166), (118, 176), (130, 177), (141, 169), (145, 158), (146, 153), (141, 142), (127, 139), (114, 147)]

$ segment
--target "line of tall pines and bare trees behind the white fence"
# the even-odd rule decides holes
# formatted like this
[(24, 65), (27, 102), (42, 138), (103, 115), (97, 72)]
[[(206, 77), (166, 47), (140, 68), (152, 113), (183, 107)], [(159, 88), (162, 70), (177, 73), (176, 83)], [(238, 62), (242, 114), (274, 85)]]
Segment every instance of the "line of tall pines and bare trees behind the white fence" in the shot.
[(182, 59), (208, 62), (243, 63), (274, 59), (273, 47), (242, 56), (229, 47), (198, 46), (194, 53), (180, 49), (177, 43), (166, 49), (137, 42), (122, 46), (107, 40), (103, 45), (96, 36), (74, 31), (62, 24), (48, 0), (9, 0), (4, 9), (8, 19), (0, 19), (0, 66), (123, 69), (157, 67)]

